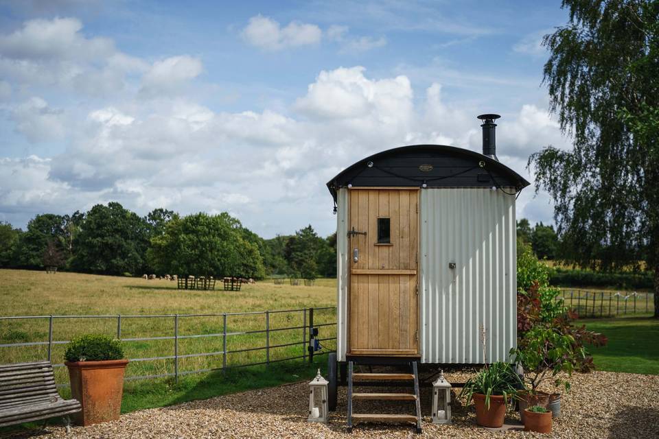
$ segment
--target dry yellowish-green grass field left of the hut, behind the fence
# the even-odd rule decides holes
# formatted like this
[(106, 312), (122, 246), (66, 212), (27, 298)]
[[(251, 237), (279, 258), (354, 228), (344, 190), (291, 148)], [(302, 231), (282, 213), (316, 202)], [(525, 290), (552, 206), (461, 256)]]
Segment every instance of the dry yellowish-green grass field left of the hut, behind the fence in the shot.
[[(214, 314), (244, 311), (302, 309), (334, 306), (336, 281), (319, 279), (314, 286), (274, 285), (263, 281), (244, 285), (240, 292), (178, 290), (176, 283), (143, 278), (95, 276), (90, 274), (46, 274), (25, 270), (0, 270), (0, 313), (2, 316), (71, 316), (112, 315), (145, 316), (167, 314)], [(53, 340), (71, 340), (83, 333), (117, 335), (117, 317), (55, 318)], [(317, 311), (314, 323), (334, 323), (333, 309)], [(262, 331), (264, 314), (227, 316), (227, 332)], [(302, 329), (278, 330), (303, 325), (303, 311), (271, 313), (269, 316), (270, 346), (303, 341)], [(222, 316), (180, 317), (178, 335), (209, 335), (178, 340), (178, 355), (213, 353), (223, 350)], [(321, 327), (320, 337), (334, 337), (332, 326)], [(174, 318), (122, 317), (122, 339), (140, 337), (172, 337)], [(47, 341), (49, 319), (0, 320), (0, 344)], [(265, 346), (264, 333), (229, 335), (227, 351)], [(329, 347), (333, 343), (327, 343)], [(65, 344), (54, 345), (52, 361), (62, 363)], [(270, 361), (302, 355), (304, 346), (283, 346), (270, 349)], [(138, 340), (124, 342), (128, 358), (150, 358), (174, 355), (174, 340)], [(0, 347), (0, 364), (45, 359), (47, 346)], [(266, 361), (266, 351), (246, 351), (227, 355), (227, 365), (235, 366)], [(184, 357), (178, 361), (179, 372), (211, 369), (222, 366), (222, 355)], [(132, 361), (128, 376), (163, 375), (174, 371), (173, 359)], [(66, 369), (56, 370), (56, 379), (67, 382)]]

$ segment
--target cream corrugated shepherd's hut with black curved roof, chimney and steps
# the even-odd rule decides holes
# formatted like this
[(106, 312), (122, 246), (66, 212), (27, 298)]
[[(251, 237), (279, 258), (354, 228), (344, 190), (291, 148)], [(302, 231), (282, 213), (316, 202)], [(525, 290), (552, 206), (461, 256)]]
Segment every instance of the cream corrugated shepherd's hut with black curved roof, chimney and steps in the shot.
[[(384, 416), (352, 413), (353, 381), (413, 378), (420, 429), (417, 364), (506, 361), (516, 346), (515, 201), (529, 182), (496, 157), (498, 117), (478, 116), (482, 154), (397, 147), (327, 183), (338, 264), (329, 402), (336, 405), (338, 369), (349, 385), (349, 429), (358, 418)], [(362, 364), (406, 365), (411, 373), (352, 373)]]

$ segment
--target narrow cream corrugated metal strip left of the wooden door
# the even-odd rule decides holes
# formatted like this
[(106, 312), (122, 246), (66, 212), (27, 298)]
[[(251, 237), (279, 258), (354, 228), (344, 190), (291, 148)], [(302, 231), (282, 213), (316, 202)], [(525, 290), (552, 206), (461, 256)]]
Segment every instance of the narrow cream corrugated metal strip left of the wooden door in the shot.
[(345, 361), (347, 348), (348, 307), (348, 190), (336, 196), (336, 359)]

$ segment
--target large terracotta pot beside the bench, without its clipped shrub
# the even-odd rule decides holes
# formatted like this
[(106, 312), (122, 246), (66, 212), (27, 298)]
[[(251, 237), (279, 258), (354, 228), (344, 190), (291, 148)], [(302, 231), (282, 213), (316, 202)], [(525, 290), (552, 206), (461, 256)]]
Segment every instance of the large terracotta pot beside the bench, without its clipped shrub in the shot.
[(91, 425), (119, 419), (124, 394), (127, 359), (108, 361), (66, 361), (71, 396), (80, 401), (82, 412), (76, 423)]

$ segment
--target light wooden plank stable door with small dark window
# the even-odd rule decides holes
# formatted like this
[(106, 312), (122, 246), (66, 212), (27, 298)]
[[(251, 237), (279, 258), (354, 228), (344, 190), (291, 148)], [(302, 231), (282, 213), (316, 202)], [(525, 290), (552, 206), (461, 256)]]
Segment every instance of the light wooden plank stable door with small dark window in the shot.
[(418, 198), (416, 188), (350, 189), (351, 354), (419, 353)]

